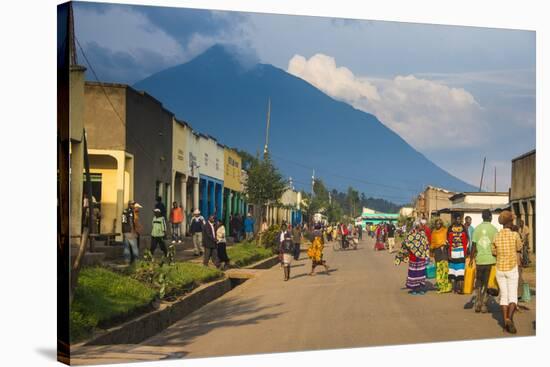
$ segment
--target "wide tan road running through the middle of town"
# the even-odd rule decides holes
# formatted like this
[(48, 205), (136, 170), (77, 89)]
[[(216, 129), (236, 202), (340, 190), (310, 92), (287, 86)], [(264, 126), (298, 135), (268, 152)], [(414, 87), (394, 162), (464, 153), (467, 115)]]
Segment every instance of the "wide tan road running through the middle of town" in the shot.
[[(140, 345), (90, 347), (73, 363), (106, 363), (178, 357), (379, 346), (390, 344), (511, 337), (500, 315), (476, 314), (470, 295), (411, 296), (406, 264), (393, 265), (372, 240), (356, 251), (325, 248), (331, 269), (308, 276), (302, 252), (283, 282), (279, 266), (259, 275)], [(535, 335), (535, 297), (517, 313), (518, 334)], [(491, 307), (497, 311), (498, 306)]]

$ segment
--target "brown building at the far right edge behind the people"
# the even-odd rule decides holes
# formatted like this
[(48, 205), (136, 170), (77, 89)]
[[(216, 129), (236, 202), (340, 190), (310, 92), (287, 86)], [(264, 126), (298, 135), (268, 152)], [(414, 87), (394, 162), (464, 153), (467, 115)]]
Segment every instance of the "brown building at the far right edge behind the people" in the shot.
[(536, 252), (536, 151), (512, 160), (510, 206), (517, 219), (523, 219), (531, 230), (529, 247)]

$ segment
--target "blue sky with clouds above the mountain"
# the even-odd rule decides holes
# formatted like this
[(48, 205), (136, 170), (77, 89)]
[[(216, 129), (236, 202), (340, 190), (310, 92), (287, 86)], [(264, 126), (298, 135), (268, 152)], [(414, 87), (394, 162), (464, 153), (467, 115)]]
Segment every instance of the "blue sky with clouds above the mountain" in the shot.
[(532, 31), (94, 3), (75, 4), (75, 23), (104, 81), (132, 84), (233, 44), (375, 114), (469, 183), (486, 156), (486, 189), (496, 167), (508, 190), (510, 160), (535, 147)]

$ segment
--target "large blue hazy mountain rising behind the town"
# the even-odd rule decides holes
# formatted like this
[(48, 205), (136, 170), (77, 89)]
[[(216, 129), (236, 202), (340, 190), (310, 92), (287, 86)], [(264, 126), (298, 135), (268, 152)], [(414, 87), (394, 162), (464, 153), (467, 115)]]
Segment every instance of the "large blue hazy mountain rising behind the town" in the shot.
[(367, 197), (396, 203), (410, 202), (427, 184), (475, 190), (375, 116), (334, 100), (284, 70), (243, 60), (225, 46), (213, 46), (134, 87), (155, 96), (198, 131), (251, 153), (263, 151), (271, 98), (269, 150), (297, 188), (309, 188), (314, 167), (330, 188), (354, 186)]

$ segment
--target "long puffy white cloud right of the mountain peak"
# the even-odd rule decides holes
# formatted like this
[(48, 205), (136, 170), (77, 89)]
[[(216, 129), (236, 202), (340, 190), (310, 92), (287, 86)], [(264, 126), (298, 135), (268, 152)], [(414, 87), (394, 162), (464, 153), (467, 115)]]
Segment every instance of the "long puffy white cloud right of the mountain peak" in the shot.
[(414, 75), (393, 79), (356, 76), (323, 54), (309, 60), (295, 55), (288, 72), (335, 99), (376, 115), (421, 151), (469, 147), (482, 141), (486, 125), (481, 119), (482, 108), (463, 88)]

